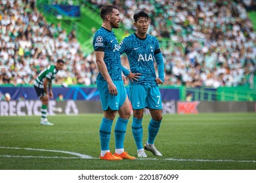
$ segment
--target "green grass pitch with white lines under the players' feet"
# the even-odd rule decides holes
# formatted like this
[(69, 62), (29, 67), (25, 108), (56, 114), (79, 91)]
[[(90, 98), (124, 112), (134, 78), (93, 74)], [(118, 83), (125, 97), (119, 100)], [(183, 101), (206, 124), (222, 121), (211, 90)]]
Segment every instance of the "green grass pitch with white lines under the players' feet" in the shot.
[[(102, 161), (98, 129), (102, 114), (49, 116), (54, 126), (39, 124), (40, 116), (0, 116), (0, 169), (24, 170), (255, 170), (256, 114), (218, 113), (164, 115), (155, 146), (163, 157)], [(144, 137), (150, 116), (143, 119)], [(125, 151), (137, 156), (127, 125)], [(116, 123), (114, 122), (114, 125)], [(110, 140), (114, 152), (114, 133)]]

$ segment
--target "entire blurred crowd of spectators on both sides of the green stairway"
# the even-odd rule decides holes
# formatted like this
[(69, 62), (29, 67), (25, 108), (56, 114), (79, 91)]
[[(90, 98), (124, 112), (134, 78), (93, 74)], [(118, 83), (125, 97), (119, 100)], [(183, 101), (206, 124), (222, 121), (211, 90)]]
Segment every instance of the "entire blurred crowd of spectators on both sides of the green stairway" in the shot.
[[(253, 80), (256, 33), (245, 9), (253, 2), (90, 1), (98, 8), (119, 7), (122, 24), (131, 32), (133, 14), (148, 12), (148, 33), (170, 42), (161, 48), (165, 85), (215, 88)], [(82, 52), (75, 31), (46, 22), (33, 0), (0, 1), (0, 84), (33, 84), (39, 71), (60, 58), (66, 66), (54, 84), (95, 84), (94, 53)], [(125, 56), (121, 61), (129, 69)]]

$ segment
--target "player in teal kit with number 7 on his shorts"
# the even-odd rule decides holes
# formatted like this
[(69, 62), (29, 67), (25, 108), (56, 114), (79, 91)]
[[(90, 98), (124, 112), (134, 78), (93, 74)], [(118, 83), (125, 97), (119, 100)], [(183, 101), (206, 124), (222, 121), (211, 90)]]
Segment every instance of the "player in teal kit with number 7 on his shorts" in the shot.
[[(163, 56), (156, 37), (146, 33), (149, 25), (148, 14), (139, 11), (133, 18), (137, 28), (136, 33), (125, 37), (119, 45), (120, 53), (127, 54), (131, 72), (141, 74), (137, 80), (129, 80), (129, 99), (133, 106), (133, 137), (139, 157), (147, 157), (144, 149), (155, 156), (162, 156), (155, 148), (154, 140), (162, 120), (161, 94), (158, 84), (163, 83), (164, 80)], [(158, 76), (156, 76), (154, 60), (158, 66)], [(143, 146), (142, 118), (145, 107), (150, 110), (152, 119), (148, 125), (148, 141)]]

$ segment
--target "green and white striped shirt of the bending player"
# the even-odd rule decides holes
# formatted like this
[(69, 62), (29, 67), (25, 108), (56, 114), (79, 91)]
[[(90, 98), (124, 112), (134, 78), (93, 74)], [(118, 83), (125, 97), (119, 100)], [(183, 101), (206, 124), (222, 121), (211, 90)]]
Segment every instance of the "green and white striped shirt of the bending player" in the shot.
[(43, 82), (45, 81), (45, 78), (48, 78), (51, 82), (55, 78), (57, 73), (58, 71), (55, 65), (50, 65), (49, 67), (43, 69), (43, 71), (39, 73), (33, 84), (38, 88), (43, 88)]

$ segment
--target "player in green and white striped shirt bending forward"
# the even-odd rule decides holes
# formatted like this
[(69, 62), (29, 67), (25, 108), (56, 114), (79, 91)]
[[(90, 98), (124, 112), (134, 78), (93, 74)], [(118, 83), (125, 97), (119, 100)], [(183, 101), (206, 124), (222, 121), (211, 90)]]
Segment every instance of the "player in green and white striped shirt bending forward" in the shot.
[(55, 78), (58, 71), (63, 69), (63, 67), (64, 61), (62, 59), (58, 59), (56, 65), (50, 65), (43, 69), (33, 83), (35, 92), (37, 92), (37, 97), (42, 101), (41, 125), (53, 125), (47, 120), (47, 105), (49, 98), (53, 98), (52, 80)]

